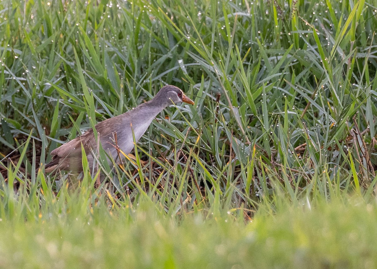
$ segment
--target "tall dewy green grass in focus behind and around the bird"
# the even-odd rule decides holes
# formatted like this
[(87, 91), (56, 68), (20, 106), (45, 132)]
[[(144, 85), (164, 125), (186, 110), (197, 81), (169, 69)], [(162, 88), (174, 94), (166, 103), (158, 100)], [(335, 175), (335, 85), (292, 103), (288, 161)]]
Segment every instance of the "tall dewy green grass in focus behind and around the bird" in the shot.
[(9, 210), (14, 183), (60, 197), (49, 152), (164, 84), (195, 106), (164, 110), (100, 188), (84, 173), (92, 202), (144, 197), (175, 215), (374, 193), (372, 2), (2, 1), (0, 15)]

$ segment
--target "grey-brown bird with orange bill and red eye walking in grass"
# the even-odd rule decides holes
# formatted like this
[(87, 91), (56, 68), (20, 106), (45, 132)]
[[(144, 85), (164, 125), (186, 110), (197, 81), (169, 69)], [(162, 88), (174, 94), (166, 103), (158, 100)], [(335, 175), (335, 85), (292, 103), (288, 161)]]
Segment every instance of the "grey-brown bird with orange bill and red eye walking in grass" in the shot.
[[(193, 105), (194, 102), (188, 98), (181, 89), (176, 86), (166, 85), (150, 101), (139, 104), (126, 113), (106, 119), (95, 125), (99, 142), (103, 149), (112, 156), (119, 164), (119, 150), (129, 154), (134, 148), (133, 136), (137, 142), (145, 133), (152, 120), (168, 105), (185, 102)], [(116, 143), (114, 132), (116, 131)], [(81, 136), (66, 142), (60, 147), (51, 151), (52, 160), (46, 164), (44, 171), (72, 171), (80, 173), (83, 171), (81, 144), (88, 160), (89, 169), (93, 168), (93, 153), (97, 152), (97, 140), (93, 128), (90, 128)], [(109, 165), (112, 160), (107, 158)]]

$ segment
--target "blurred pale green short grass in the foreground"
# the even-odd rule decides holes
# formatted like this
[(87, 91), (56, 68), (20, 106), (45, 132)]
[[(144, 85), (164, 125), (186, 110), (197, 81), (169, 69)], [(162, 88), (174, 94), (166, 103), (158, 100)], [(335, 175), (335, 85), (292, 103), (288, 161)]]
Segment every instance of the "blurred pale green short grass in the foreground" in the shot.
[[(89, 209), (82, 193), (0, 221), (3, 268), (375, 268), (377, 206), (360, 198), (168, 217), (150, 202)], [(26, 202), (26, 201), (24, 201)], [(80, 205), (80, 206), (78, 206)], [(43, 208), (43, 207), (42, 207)], [(26, 212), (26, 211), (24, 211)], [(266, 214), (267, 213), (267, 214)], [(26, 220), (23, 220), (25, 218)], [(179, 220), (178, 220), (179, 218)], [(21, 219), (21, 220), (20, 220)]]

